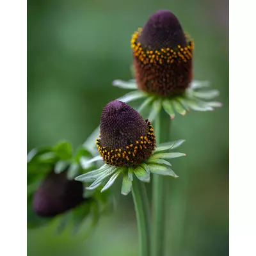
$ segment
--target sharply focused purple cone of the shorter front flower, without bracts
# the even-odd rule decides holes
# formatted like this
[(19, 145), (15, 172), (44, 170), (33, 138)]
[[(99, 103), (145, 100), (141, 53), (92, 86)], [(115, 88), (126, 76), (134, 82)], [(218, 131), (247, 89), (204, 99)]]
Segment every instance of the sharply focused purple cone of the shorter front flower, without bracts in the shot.
[(119, 100), (109, 102), (103, 109), (96, 143), (104, 162), (114, 166), (144, 163), (156, 147), (150, 122)]

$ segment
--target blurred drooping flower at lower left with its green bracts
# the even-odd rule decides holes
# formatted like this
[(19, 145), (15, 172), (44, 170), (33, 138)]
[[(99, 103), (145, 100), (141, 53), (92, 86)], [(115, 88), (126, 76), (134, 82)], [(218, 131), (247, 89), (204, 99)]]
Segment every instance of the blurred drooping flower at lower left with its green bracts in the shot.
[(28, 228), (60, 218), (61, 230), (72, 220), (73, 230), (77, 232), (90, 216), (90, 228), (94, 227), (100, 214), (110, 205), (110, 198), (107, 194), (102, 196), (97, 189), (88, 191), (83, 183), (74, 180), (79, 173), (95, 168), (95, 163), (84, 164), (91, 157), (85, 147), (77, 148), (73, 155), (67, 141), (29, 152)]

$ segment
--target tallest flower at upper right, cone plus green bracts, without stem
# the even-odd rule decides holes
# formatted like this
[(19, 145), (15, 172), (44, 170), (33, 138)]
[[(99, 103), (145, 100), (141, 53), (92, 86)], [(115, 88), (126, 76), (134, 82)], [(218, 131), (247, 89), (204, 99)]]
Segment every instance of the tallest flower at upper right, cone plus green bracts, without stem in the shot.
[(113, 81), (114, 86), (137, 89), (119, 98), (123, 102), (144, 99), (138, 111), (148, 109), (152, 122), (163, 107), (171, 119), (175, 113), (186, 115), (195, 111), (213, 111), (220, 102), (207, 102), (219, 95), (205, 81), (193, 81), (194, 43), (184, 33), (172, 12), (160, 10), (138, 29), (131, 40), (135, 79)]

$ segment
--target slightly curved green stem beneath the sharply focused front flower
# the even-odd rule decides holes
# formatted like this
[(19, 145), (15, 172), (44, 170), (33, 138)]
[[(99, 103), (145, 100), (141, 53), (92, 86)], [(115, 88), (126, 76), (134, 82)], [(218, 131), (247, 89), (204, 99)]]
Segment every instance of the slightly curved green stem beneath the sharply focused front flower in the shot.
[(140, 238), (140, 256), (150, 256), (150, 208), (145, 184), (138, 179), (132, 182), (132, 198), (136, 211)]

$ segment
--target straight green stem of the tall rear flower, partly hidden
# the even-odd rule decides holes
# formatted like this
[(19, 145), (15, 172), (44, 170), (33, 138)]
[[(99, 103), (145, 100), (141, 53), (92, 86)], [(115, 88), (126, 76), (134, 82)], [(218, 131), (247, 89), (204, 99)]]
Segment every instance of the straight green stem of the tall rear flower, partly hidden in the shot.
[[(156, 141), (161, 141), (161, 124), (159, 115), (154, 122)], [(164, 176), (153, 175), (152, 187), (152, 256), (164, 255), (164, 201), (165, 201), (165, 183)]]

